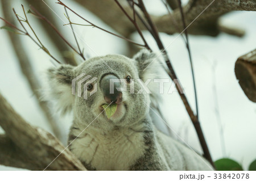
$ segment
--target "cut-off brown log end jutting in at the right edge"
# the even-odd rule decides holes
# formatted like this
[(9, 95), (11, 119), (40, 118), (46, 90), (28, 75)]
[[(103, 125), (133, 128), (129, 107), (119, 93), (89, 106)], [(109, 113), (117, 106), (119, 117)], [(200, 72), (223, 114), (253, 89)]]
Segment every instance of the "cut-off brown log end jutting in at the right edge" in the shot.
[(237, 59), (235, 73), (247, 98), (256, 103), (256, 49)]

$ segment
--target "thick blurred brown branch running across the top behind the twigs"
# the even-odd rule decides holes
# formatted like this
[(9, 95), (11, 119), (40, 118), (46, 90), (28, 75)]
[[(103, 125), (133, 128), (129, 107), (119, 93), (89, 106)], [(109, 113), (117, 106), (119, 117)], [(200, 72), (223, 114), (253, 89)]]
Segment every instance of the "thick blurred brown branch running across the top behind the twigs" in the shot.
[[(75, 0), (80, 3), (86, 9), (91, 11), (93, 14), (98, 16), (103, 22), (112, 27), (115, 31), (120, 33), (123, 36), (129, 37), (131, 33), (135, 32), (135, 27), (129, 20), (126, 18), (125, 14), (122, 13), (118, 6), (115, 5), (114, 1), (90, 1), (90, 0)], [(121, 1), (120, 1), (121, 2)], [(172, 1), (169, 1), (172, 2)], [(213, 0), (190, 0), (184, 8), (184, 14), (186, 19), (186, 24), (190, 24), (196, 17), (205, 10), (207, 6), (212, 3)], [(128, 6), (123, 5), (125, 10), (131, 14)], [(175, 5), (173, 6), (175, 9)], [(111, 10), (111, 11), (109, 11)], [(220, 26), (220, 17), (221, 15), (226, 14), (230, 11), (255, 11), (256, 2), (253, 0), (224, 0), (217, 1), (215, 0), (212, 5), (210, 5), (203, 14), (199, 16), (189, 26), (188, 33), (192, 35), (208, 35), (208, 36), (217, 36), (220, 32), (224, 31), (230, 35), (242, 36), (244, 32), (242, 30), (236, 31), (232, 30), (232, 27), (221, 28)], [(164, 32), (168, 34), (173, 34), (179, 30), (183, 30), (183, 24), (181, 21), (181, 15), (179, 9), (175, 9), (174, 12), (166, 14), (163, 16), (151, 16), (156, 27), (158, 27), (159, 32)], [(175, 22), (176, 23), (175, 23)], [(139, 23), (139, 22), (138, 22)], [(139, 27), (143, 30), (146, 28), (142, 23), (139, 23)], [(177, 28), (179, 27), (179, 28)], [(235, 28), (238, 29), (238, 28)], [(228, 30), (228, 31), (225, 31)], [(238, 32), (238, 33), (237, 33)], [(242, 33), (242, 34), (241, 34)]]

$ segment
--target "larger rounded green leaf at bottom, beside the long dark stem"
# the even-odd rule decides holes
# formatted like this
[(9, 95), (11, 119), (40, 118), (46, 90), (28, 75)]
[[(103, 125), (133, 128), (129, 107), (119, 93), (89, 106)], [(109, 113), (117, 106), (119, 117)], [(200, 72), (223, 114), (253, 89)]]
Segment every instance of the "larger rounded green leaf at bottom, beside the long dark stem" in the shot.
[(218, 159), (216, 162), (214, 162), (214, 165), (216, 166), (216, 170), (218, 171), (241, 171), (242, 166), (237, 163), (236, 161), (233, 161), (233, 159), (229, 158), (222, 158)]

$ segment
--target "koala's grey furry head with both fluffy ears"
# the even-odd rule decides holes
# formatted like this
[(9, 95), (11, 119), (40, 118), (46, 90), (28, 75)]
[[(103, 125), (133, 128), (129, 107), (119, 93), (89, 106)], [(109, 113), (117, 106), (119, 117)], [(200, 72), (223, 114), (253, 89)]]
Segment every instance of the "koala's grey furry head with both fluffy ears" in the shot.
[[(150, 109), (150, 95), (144, 91), (142, 82), (155, 77), (158, 70), (155, 58), (154, 53), (141, 50), (132, 59), (108, 55), (90, 58), (76, 67), (51, 68), (48, 70), (51, 99), (56, 99), (63, 112), (73, 110), (74, 120), (84, 125), (92, 121), (90, 126), (100, 129), (133, 125)], [(109, 119), (104, 104), (117, 104)]]

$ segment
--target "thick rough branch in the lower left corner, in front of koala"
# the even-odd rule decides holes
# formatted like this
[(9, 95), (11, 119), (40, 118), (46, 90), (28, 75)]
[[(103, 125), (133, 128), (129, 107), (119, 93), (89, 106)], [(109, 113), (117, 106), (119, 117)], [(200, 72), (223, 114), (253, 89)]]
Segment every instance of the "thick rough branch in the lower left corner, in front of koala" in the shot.
[(52, 134), (26, 123), (1, 94), (0, 110), (0, 126), (6, 134), (0, 136), (1, 165), (44, 170), (57, 157), (47, 170), (86, 170)]

